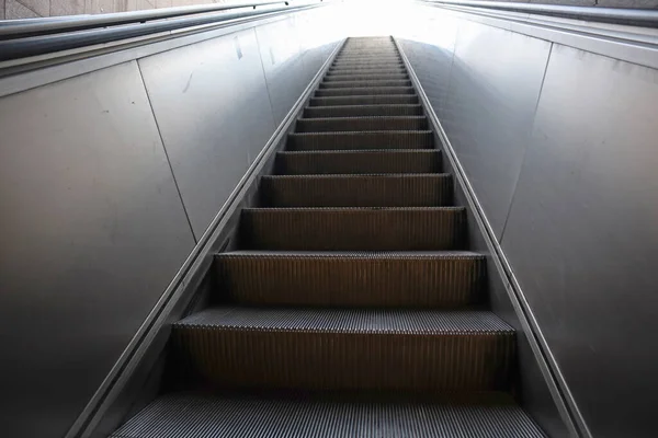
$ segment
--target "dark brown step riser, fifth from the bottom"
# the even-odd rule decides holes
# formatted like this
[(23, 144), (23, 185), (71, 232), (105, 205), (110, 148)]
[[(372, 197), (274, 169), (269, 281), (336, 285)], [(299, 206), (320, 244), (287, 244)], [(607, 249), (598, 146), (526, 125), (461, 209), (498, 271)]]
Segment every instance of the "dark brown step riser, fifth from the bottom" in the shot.
[(276, 154), (280, 175), (436, 173), (441, 169), (441, 152), (435, 149), (284, 151)]

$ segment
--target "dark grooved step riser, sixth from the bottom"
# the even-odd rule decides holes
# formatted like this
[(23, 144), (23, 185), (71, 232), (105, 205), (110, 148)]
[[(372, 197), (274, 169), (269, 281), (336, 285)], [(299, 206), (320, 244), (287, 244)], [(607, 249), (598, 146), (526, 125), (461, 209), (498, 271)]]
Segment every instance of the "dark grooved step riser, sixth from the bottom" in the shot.
[(292, 132), (288, 150), (431, 149), (431, 130), (389, 130), (362, 132)]

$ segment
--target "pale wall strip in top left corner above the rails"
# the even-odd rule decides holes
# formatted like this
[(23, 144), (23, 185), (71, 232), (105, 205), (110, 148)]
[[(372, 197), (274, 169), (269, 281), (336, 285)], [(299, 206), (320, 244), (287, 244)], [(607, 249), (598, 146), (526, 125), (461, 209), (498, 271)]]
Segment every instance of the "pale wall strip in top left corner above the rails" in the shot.
[(126, 12), (224, 2), (226, 0), (0, 0), (0, 20)]

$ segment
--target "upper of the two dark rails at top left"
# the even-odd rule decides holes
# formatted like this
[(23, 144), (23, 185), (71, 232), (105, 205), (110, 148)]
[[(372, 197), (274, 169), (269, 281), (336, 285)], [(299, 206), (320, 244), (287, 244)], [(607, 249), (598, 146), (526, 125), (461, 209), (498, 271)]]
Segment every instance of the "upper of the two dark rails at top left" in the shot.
[[(52, 35), (58, 33), (69, 33), (84, 31), (90, 28), (102, 28), (110, 26), (120, 26), (132, 23), (146, 23), (154, 20), (173, 19), (185, 15), (195, 15), (209, 12), (228, 11), (231, 9), (285, 4), (288, 5), (290, 0), (279, 1), (260, 1), (260, 2), (240, 2), (240, 3), (223, 3), (223, 4), (201, 4), (194, 7), (167, 8), (148, 11), (134, 12), (116, 12), (100, 15), (82, 15), (70, 16), (64, 20), (35, 19), (30, 22), (23, 21), (18, 25), (0, 26), (0, 39), (25, 38), (38, 35)], [(9, 22), (11, 24), (11, 22)]]

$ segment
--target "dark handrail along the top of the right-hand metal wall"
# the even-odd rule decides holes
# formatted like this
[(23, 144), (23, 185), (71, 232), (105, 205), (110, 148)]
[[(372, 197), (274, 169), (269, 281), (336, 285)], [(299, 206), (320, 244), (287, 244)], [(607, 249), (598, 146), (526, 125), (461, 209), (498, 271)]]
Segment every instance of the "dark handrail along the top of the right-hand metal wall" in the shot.
[(646, 9), (615, 9), (594, 7), (568, 7), (559, 4), (529, 4), (485, 0), (419, 0), (436, 5), (458, 5), (496, 9), (510, 12), (559, 16), (565, 19), (602, 23), (627, 24), (643, 27), (658, 27), (658, 11)]

